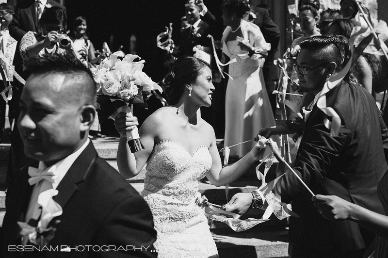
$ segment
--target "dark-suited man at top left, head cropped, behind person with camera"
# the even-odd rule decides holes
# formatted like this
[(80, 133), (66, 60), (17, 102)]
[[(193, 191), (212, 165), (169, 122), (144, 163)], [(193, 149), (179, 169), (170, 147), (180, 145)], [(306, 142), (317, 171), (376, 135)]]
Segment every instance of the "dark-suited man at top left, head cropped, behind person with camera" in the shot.
[[(64, 9), (66, 13), (66, 9), (63, 5), (57, 3), (54, 0), (20, 0), (16, 3), (15, 13), (13, 15), (13, 20), (9, 25), (9, 33), (10, 35), (16, 39), (16, 52), (14, 58), (15, 71), (24, 77), (23, 75), (23, 60), (20, 56), (20, 41), (25, 33), (32, 31), (37, 32), (39, 27), (39, 20), (42, 16), (43, 11), (46, 8), (50, 8), (51, 6), (60, 6)], [(25, 79), (25, 78), (24, 78)], [(9, 101), (9, 117), (11, 119), (17, 119), (17, 116), (20, 113), (19, 108), (19, 98), (23, 91), (23, 84), (21, 84), (18, 80), (14, 78), (14, 82), (12, 83), (14, 96)], [(23, 144), (21, 142), (19, 131), (17, 125), (15, 124), (12, 138), (11, 138), (11, 151), (10, 151), (10, 159), (8, 164), (8, 172), (7, 172), (7, 183), (9, 183), (15, 173), (23, 166), (27, 165), (30, 160), (23, 154)], [(20, 153), (21, 152), (21, 153)]]

